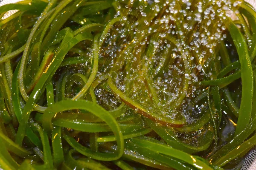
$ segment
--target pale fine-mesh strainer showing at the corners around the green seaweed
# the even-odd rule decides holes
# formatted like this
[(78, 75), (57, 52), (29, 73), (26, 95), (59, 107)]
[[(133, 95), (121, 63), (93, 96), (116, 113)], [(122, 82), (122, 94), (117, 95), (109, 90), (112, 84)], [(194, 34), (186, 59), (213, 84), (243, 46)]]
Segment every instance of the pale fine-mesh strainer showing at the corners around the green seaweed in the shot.
[[(0, 0), (0, 6), (8, 3), (16, 3), (22, 0)], [(250, 3), (254, 8), (256, 8), (256, 0), (245, 0)], [(2, 19), (5, 19), (12, 14), (15, 14), (17, 10), (8, 11)], [(254, 147), (244, 159), (244, 163), (241, 166), (241, 170), (256, 170), (256, 147)]]

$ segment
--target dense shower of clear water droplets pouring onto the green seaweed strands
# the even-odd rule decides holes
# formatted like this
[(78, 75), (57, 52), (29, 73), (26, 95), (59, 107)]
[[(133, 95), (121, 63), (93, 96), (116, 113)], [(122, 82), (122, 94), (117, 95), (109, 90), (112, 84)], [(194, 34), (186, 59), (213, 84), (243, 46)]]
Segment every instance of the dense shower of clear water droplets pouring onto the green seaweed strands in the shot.
[[(130, 97), (136, 102), (173, 119), (181, 113), (189, 122), (191, 105), (197, 114), (206, 109), (205, 104), (195, 108), (193, 100), (205, 90), (200, 81), (212, 79), (211, 63), (216, 57), (221, 59), (218, 44), (228, 36), (225, 20), (239, 13), (239, 3), (116, 0), (114, 18), (119, 22), (105, 34), (102, 48), (102, 57), (111, 62), (105, 62), (101, 71), (118, 67), (115, 82), (119, 89), (125, 92), (126, 82), (132, 82)], [(155, 106), (145, 79), (159, 99)]]

